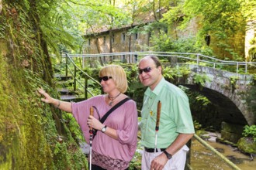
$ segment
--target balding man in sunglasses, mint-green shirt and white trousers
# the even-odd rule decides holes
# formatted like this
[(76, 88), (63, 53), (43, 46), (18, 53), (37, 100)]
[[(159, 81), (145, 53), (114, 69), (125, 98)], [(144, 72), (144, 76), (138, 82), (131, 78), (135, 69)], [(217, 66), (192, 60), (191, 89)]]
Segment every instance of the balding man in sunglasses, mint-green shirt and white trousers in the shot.
[[(148, 87), (141, 110), (142, 170), (184, 169), (189, 148), (185, 145), (195, 133), (189, 99), (175, 85), (164, 80), (157, 56), (145, 56), (139, 63), (140, 82)], [(161, 116), (155, 148), (157, 103), (161, 101)]]

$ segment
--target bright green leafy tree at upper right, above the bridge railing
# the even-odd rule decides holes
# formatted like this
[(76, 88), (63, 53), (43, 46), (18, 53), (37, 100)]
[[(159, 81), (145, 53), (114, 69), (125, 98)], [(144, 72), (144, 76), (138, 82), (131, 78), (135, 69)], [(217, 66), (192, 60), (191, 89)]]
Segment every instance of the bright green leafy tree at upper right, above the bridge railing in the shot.
[(243, 59), (244, 48), (240, 48), (240, 42), (244, 40), (241, 39), (239, 44), (234, 43), (234, 39), (238, 38), (236, 35), (244, 35), (245, 29), (245, 20), (237, 0), (187, 0), (184, 7), (185, 22), (195, 17), (201, 18), (199, 35), (201, 39), (208, 33), (212, 36), (215, 52), (220, 58)]

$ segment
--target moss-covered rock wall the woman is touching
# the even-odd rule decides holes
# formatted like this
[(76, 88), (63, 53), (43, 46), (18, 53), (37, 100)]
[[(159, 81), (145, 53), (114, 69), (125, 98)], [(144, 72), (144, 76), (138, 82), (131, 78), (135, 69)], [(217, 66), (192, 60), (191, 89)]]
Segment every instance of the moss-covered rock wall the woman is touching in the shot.
[(36, 93), (43, 87), (57, 97), (37, 11), (29, 2), (0, 1), (0, 169), (82, 169), (85, 156), (61, 111)]

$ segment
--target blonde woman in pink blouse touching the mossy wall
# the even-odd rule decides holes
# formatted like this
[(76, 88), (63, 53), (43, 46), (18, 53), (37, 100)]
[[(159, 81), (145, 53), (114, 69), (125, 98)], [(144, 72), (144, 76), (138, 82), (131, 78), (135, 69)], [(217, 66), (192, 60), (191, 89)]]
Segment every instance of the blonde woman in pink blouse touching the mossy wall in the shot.
[[(98, 130), (92, 141), (92, 169), (128, 169), (137, 148), (137, 107), (133, 100), (128, 100), (113, 110), (101, 123), (106, 112), (119, 101), (125, 99), (127, 90), (126, 73), (121, 66), (104, 66), (99, 71), (99, 80), (104, 95), (91, 97), (78, 103), (70, 103), (54, 99), (44, 90), (39, 92), (45, 98), (43, 102), (54, 104), (55, 107), (71, 112), (89, 141), (89, 127)], [(90, 116), (90, 107), (94, 107), (94, 116)], [(99, 116), (97, 111), (99, 110)]]

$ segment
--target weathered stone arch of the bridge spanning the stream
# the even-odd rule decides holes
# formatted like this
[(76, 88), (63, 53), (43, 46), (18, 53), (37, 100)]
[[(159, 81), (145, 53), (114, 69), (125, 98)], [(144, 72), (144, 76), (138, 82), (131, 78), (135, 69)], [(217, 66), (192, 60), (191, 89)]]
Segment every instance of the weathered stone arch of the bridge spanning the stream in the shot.
[[(233, 124), (254, 124), (254, 113), (248, 109), (245, 100), (251, 88), (253, 76), (216, 70), (207, 66), (187, 66), (192, 72), (185, 81), (178, 80), (178, 84), (197, 90), (211, 100), (214, 105), (218, 106), (217, 110), (220, 111), (224, 121)], [(201, 90), (193, 80), (196, 73), (206, 74), (209, 77), (209, 81), (203, 84)], [(231, 83), (231, 77), (236, 77), (237, 80)]]

